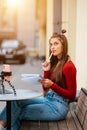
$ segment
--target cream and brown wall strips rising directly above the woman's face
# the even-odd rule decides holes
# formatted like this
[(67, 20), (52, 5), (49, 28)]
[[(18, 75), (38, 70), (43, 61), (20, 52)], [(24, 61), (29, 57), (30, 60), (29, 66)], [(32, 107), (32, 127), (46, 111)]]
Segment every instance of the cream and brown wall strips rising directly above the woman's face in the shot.
[(49, 57), (49, 38), (61, 31), (61, 0), (47, 0), (46, 58)]

